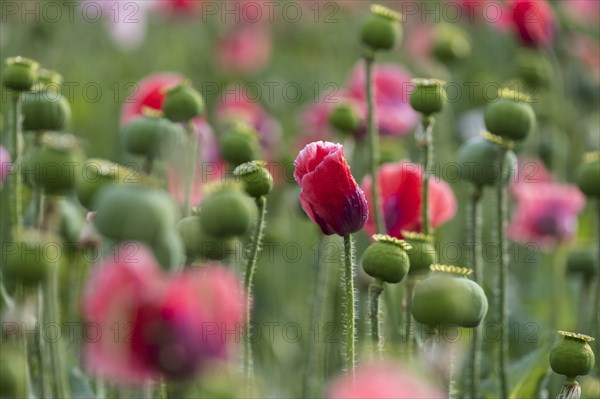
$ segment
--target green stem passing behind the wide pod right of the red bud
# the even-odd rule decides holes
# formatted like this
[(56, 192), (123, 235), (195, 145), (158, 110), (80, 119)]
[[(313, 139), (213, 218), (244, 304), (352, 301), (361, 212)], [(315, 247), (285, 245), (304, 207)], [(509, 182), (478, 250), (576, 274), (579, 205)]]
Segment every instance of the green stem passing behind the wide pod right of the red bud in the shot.
[[(481, 244), (481, 187), (475, 187), (471, 194), (471, 216), (470, 216), (470, 252), (471, 268), (473, 269), (473, 280), (483, 287), (483, 265), (481, 263), (481, 251), (478, 245)], [(481, 333), (482, 325), (473, 329), (473, 339), (471, 341), (471, 363), (469, 382), (471, 390), (471, 399), (479, 398), (479, 378), (481, 374)]]

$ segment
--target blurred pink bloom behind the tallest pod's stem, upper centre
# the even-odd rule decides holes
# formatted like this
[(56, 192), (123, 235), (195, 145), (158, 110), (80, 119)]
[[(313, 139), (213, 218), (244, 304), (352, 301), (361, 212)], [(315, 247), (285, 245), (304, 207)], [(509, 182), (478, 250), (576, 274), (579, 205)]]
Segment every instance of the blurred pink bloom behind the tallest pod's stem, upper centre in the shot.
[[(408, 102), (411, 76), (397, 65), (377, 64), (373, 72), (375, 94), (375, 120), (379, 132), (403, 136), (419, 122), (419, 115)], [(347, 88), (347, 97), (356, 100), (366, 120), (365, 66), (360, 62), (354, 68)]]

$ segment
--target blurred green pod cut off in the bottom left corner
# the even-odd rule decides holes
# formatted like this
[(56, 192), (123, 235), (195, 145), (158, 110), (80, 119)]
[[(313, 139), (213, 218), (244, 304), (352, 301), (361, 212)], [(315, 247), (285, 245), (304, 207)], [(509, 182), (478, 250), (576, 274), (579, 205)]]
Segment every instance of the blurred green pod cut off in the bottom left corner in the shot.
[(2, 339), (0, 344), (0, 392), (3, 398), (28, 397), (27, 358), (19, 344), (8, 343)]

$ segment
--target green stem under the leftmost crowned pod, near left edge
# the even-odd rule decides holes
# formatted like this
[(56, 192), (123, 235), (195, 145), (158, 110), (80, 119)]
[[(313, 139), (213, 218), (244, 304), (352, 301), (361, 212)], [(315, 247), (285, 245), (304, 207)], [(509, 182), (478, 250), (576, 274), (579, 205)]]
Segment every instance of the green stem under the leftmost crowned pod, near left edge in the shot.
[(21, 190), (21, 174), (19, 166), (21, 165), (23, 155), (23, 133), (21, 131), (21, 93), (16, 92), (11, 94), (11, 131), (10, 131), (10, 155), (15, 168), (10, 174), (9, 203), (11, 206), (10, 221), (12, 227), (13, 241), (19, 241), (22, 233), (22, 190)]

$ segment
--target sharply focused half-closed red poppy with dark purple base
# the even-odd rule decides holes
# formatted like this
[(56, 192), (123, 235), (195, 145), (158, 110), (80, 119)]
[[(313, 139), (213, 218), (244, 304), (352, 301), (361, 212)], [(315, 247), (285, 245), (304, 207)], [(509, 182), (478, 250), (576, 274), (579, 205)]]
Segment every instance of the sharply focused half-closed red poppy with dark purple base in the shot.
[(302, 209), (323, 234), (345, 236), (363, 228), (367, 200), (352, 177), (341, 144), (311, 143), (300, 151), (294, 167)]

